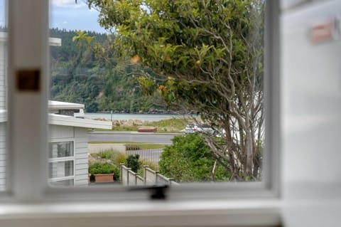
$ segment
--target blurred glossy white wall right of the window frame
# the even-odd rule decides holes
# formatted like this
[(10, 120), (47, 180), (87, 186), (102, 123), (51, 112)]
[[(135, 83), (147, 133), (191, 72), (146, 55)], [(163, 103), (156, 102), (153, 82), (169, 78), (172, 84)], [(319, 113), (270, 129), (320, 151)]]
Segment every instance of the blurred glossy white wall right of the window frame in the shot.
[(341, 1), (315, 1), (282, 15), (286, 226), (341, 225), (341, 41), (309, 39), (312, 25), (335, 16)]

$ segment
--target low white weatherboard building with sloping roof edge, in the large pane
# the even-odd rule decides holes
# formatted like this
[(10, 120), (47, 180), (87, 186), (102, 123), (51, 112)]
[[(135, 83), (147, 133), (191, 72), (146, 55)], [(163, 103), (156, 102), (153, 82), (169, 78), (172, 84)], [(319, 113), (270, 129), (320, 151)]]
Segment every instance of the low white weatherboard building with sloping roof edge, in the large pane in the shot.
[[(50, 111), (83, 113), (84, 105), (49, 102)], [(49, 114), (49, 181), (53, 185), (86, 186), (88, 168), (87, 133), (89, 129), (112, 128), (111, 122), (82, 119), (70, 115)]]

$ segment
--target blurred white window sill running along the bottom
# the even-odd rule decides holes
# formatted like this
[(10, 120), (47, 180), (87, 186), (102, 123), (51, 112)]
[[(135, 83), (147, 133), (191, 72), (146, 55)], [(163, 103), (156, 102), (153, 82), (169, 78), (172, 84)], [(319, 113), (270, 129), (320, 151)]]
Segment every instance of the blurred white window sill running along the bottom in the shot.
[(280, 201), (2, 204), (0, 226), (280, 226)]

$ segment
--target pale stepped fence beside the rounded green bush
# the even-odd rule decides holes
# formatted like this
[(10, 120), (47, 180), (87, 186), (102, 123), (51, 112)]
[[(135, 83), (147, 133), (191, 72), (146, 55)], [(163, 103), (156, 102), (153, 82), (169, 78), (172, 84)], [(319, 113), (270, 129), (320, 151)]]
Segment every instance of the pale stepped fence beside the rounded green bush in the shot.
[(178, 184), (173, 179), (159, 174), (158, 171), (154, 171), (148, 166), (144, 166), (144, 177), (140, 176), (131, 168), (121, 164), (121, 183), (124, 186), (135, 186), (135, 185), (154, 185), (154, 184), (167, 184), (175, 185)]

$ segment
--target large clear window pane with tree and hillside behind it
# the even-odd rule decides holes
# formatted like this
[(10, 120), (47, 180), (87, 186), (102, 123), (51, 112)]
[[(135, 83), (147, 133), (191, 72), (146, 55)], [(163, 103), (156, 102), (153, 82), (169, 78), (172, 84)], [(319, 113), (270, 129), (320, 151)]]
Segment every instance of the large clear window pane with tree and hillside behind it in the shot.
[(74, 186), (261, 181), (264, 4), (51, 0), (50, 159)]

